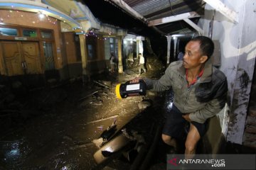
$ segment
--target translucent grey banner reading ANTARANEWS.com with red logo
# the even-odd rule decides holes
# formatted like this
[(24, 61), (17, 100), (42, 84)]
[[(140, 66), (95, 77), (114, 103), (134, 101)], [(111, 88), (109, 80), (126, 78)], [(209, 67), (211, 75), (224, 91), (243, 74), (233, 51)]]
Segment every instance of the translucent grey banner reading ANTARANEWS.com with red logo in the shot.
[(168, 154), (167, 169), (255, 169), (256, 154)]

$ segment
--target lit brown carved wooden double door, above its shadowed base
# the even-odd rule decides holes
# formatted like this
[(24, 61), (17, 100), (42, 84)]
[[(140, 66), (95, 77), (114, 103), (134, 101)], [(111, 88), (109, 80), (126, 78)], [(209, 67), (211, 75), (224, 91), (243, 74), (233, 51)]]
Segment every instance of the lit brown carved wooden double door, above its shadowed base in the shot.
[(41, 74), (38, 42), (2, 41), (6, 75)]

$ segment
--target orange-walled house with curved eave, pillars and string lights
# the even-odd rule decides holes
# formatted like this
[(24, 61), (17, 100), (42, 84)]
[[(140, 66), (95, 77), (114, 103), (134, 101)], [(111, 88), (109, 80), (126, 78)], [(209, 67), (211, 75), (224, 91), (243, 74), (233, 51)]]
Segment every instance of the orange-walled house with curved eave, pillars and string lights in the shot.
[(28, 87), (122, 67), (127, 30), (101, 23), (80, 1), (0, 1), (1, 83)]

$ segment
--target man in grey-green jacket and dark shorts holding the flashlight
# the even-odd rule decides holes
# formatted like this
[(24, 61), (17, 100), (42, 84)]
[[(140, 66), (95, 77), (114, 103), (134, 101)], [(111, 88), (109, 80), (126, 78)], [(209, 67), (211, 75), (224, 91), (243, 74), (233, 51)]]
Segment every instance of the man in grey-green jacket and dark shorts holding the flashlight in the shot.
[[(186, 159), (196, 154), (196, 145), (206, 133), (207, 119), (225, 106), (228, 84), (225, 74), (213, 67), (210, 61), (214, 44), (210, 38), (198, 36), (185, 47), (183, 60), (172, 62), (158, 80), (144, 79), (146, 89), (174, 91), (174, 103), (166, 114), (162, 140), (176, 148), (176, 139), (186, 122), (190, 128), (185, 142)], [(135, 78), (132, 82), (138, 82)]]

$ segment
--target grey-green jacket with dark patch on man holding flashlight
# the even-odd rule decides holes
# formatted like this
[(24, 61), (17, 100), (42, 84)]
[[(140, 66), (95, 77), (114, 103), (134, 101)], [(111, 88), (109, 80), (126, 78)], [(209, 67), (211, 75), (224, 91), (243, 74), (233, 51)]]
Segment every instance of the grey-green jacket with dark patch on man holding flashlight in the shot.
[(225, 106), (228, 84), (225, 74), (206, 62), (203, 75), (196, 84), (188, 86), (186, 69), (182, 61), (172, 62), (159, 80), (145, 79), (146, 88), (165, 91), (172, 87), (174, 105), (182, 113), (190, 113), (189, 118), (204, 123), (219, 113)]

